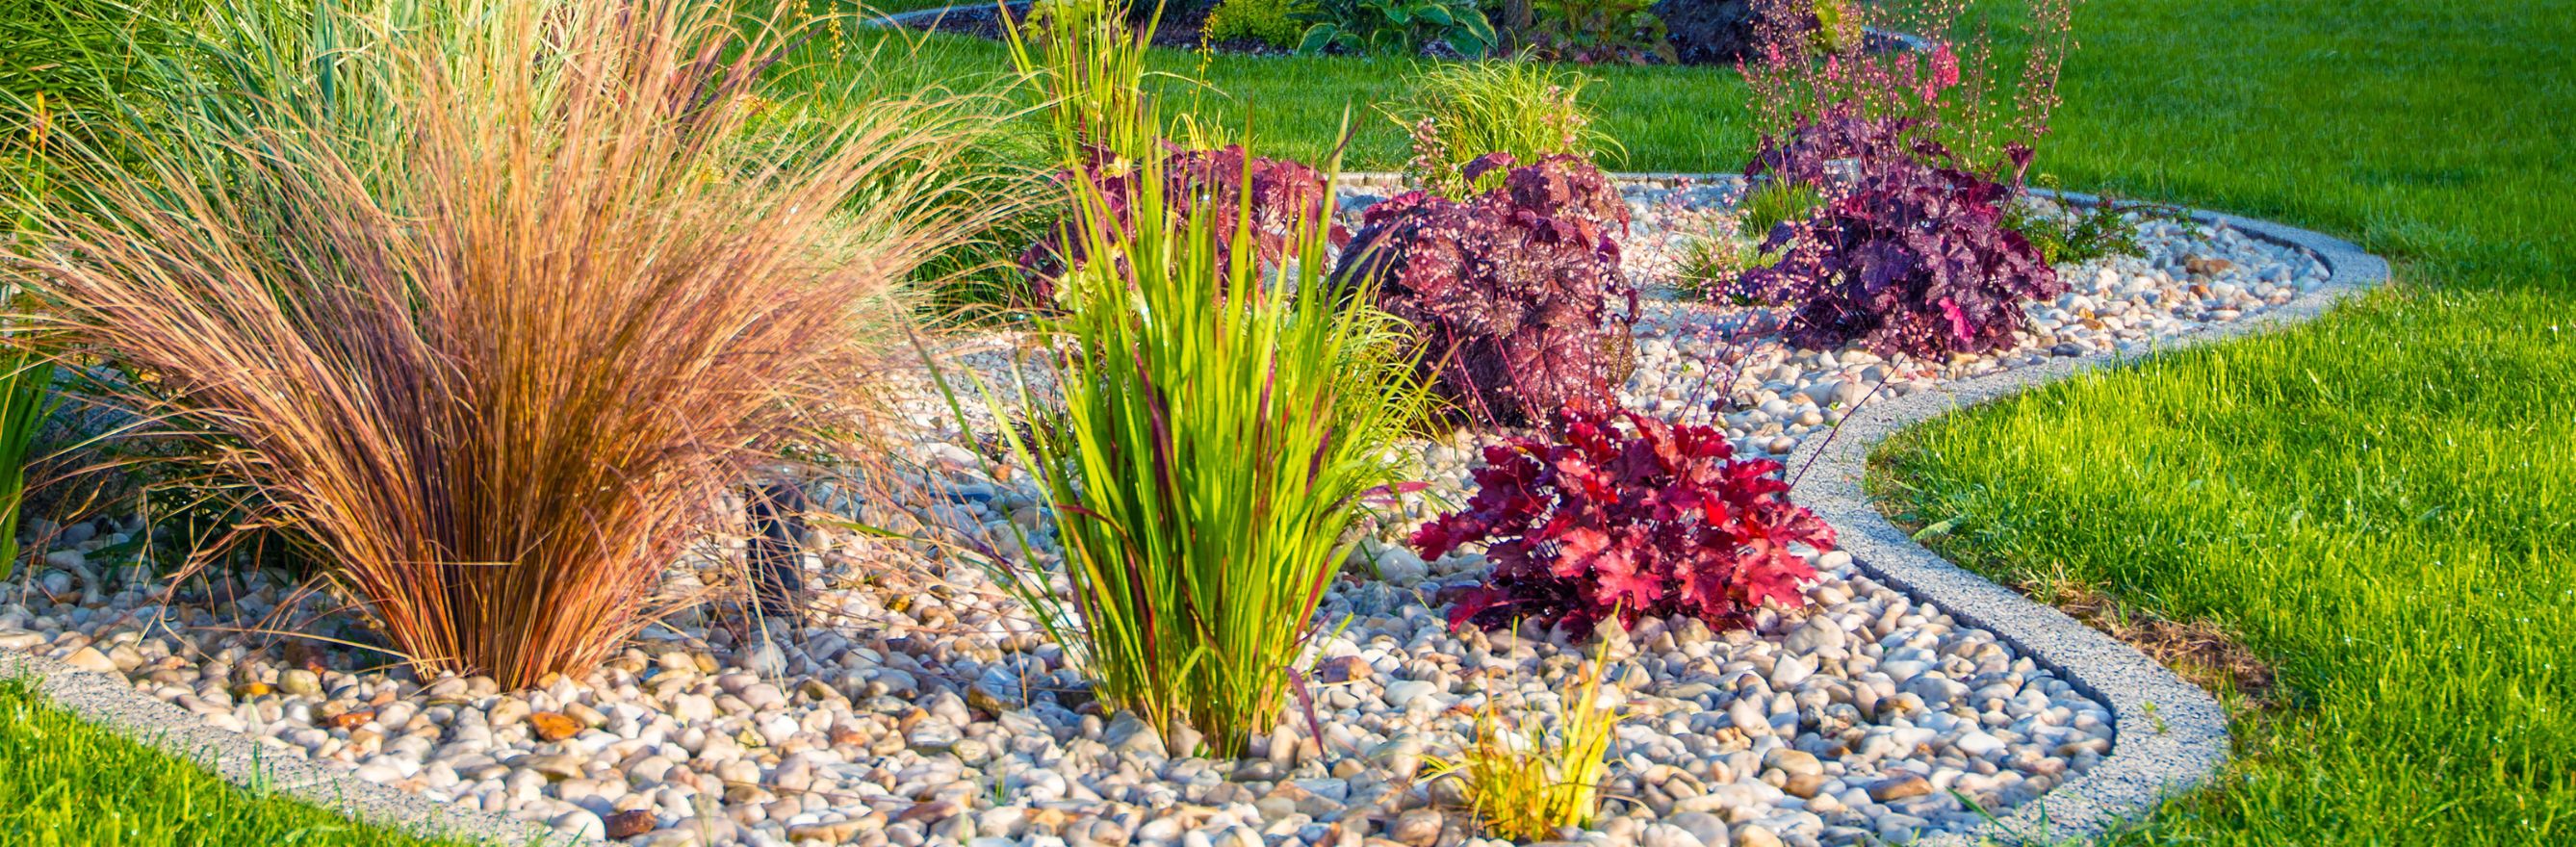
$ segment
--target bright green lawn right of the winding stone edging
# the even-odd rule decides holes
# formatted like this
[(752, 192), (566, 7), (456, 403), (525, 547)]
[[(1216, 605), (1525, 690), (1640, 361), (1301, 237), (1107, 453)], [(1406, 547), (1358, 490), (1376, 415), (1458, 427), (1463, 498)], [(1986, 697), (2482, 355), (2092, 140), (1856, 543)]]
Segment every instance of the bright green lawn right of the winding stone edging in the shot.
[(2125, 844), (2576, 842), (2568, 3), (2084, 8), (2048, 167), (2336, 232), (2396, 288), (1906, 433), (1942, 554), (2215, 620), (2287, 685)]

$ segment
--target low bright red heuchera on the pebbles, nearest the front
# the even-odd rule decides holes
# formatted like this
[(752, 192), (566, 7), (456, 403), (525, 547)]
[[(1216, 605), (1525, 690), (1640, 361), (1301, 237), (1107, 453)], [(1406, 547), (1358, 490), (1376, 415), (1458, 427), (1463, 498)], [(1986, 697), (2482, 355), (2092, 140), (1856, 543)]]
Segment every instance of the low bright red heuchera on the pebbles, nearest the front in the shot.
[(1816, 569), (1795, 546), (1832, 548), (1834, 528), (1788, 502), (1777, 461), (1736, 461), (1710, 427), (1618, 422), (1574, 412), (1564, 440), (1486, 448), (1466, 510), (1414, 533), (1422, 559), (1486, 543), (1494, 579), (1450, 605), (1450, 628), (1525, 618), (1584, 631), (1613, 610), (1625, 626), (1803, 602)]

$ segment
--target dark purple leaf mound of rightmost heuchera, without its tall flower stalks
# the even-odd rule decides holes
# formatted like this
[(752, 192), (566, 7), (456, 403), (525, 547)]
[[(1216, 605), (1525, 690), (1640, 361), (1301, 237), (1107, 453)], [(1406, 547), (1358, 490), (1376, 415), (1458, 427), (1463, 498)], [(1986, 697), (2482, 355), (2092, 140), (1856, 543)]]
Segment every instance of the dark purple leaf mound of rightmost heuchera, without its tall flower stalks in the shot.
[[(1744, 170), (1832, 185), (1824, 209), (1762, 242), (1780, 263), (1747, 270), (1736, 286), (1795, 306), (1790, 342), (1922, 358), (1986, 353), (2012, 348), (2027, 327), (2022, 304), (2066, 293), (2040, 250), (2004, 227), (2017, 191), (1909, 129), (1909, 118), (1857, 113), (1803, 121), (1790, 139), (1767, 139)], [(2017, 183), (2030, 149), (2014, 144), (2009, 157)]]

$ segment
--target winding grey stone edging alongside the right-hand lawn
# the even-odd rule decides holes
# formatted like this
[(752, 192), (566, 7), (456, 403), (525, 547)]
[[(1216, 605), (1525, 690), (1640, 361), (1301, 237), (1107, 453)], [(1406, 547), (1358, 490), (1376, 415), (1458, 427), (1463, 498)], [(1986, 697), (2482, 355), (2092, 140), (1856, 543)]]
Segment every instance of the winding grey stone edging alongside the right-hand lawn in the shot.
[[(2084, 193), (2058, 196), (2076, 203), (2097, 201)], [(2306, 322), (2344, 296), (2388, 281), (2385, 260), (2336, 237), (2215, 211), (2192, 211), (2192, 219), (2228, 224), (2267, 242), (2316, 252), (2326, 263), (2329, 275), (2318, 291), (2233, 324), (2177, 337), (2177, 348)], [(1842, 422), (1837, 435), (1808, 438), (1788, 458), (1790, 469), (1806, 469), (1790, 497), (1834, 525), (1837, 541), (1852, 554), (1860, 569), (1917, 600), (1935, 602), (1968, 626), (2012, 641), (2025, 656), (2056, 669), (2087, 695), (2112, 705), (2117, 734), (2112, 736), (2110, 757), (2099, 765), (1973, 832), (1932, 837), (1924, 844), (2053, 844), (2058, 839), (2102, 834), (2107, 826), (2136, 816), (2164, 796), (2200, 785), (2228, 759), (2228, 716), (2210, 693), (2092, 626), (1935, 556), (1888, 523), (1862, 489), (1870, 451), (1888, 435), (1955, 409), (2115, 363), (2117, 353), (2094, 353), (1968, 381), (1935, 384), (1927, 391), (1857, 409)], [(1811, 461), (1814, 466), (1808, 466)]]

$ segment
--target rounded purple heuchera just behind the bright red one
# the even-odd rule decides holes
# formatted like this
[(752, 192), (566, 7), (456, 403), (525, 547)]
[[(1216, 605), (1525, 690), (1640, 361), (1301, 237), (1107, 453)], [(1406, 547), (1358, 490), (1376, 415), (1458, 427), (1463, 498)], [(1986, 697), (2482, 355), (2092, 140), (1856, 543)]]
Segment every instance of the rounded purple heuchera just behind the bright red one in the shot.
[(1466, 203), (1409, 191), (1370, 206), (1334, 281), (1376, 278), (1378, 306), (1419, 327), (1422, 368), (1473, 417), (1517, 427), (1607, 412), (1636, 368), (1636, 288), (1610, 237), (1628, 203), (1582, 157), (1512, 165), (1499, 152), (1468, 162), (1471, 183), (1507, 172)]

